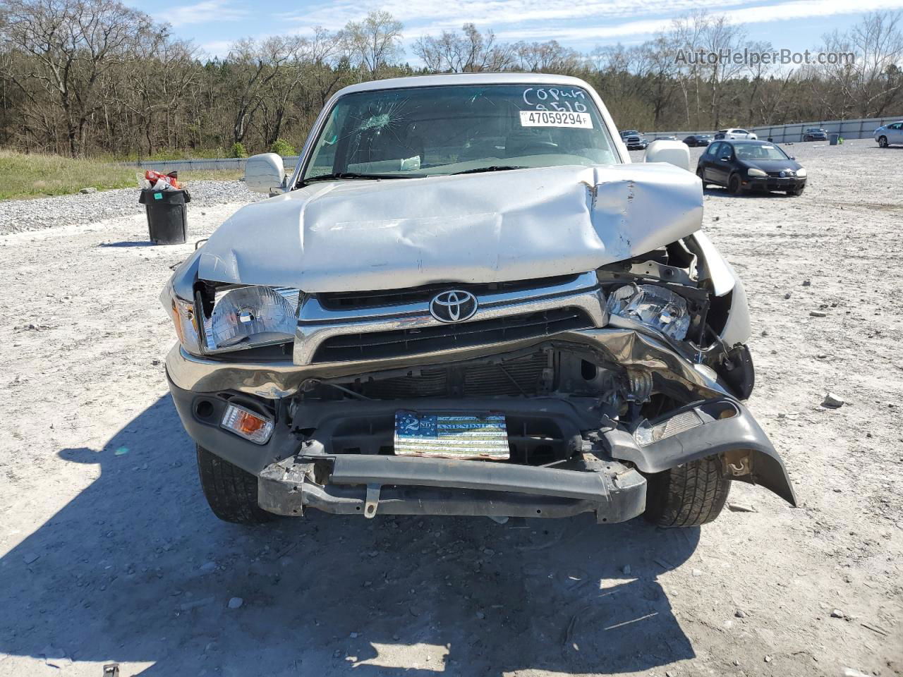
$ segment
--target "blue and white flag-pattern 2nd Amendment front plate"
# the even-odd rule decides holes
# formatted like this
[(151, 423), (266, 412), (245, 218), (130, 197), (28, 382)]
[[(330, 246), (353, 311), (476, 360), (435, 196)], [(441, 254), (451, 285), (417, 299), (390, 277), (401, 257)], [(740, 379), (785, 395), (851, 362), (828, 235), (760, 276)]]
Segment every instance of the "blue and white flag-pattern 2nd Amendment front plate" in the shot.
[(509, 458), (505, 414), (396, 412), (396, 456)]

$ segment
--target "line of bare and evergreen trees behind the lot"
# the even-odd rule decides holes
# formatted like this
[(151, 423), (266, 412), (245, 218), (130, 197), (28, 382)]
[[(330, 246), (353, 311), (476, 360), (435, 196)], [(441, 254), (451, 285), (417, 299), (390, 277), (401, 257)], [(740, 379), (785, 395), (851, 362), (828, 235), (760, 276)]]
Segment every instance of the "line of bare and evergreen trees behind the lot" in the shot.
[(246, 39), (209, 59), (118, 0), (0, 0), (0, 144), (71, 156), (292, 153), (338, 89), (425, 73), (537, 71), (586, 79), (623, 128), (703, 130), (903, 113), (899, 13), (879, 12), (782, 65), (708, 54), (770, 53), (742, 25), (687, 14), (647, 42), (574, 51), (501, 42), (466, 23), (425, 35), (371, 12), (340, 31)]

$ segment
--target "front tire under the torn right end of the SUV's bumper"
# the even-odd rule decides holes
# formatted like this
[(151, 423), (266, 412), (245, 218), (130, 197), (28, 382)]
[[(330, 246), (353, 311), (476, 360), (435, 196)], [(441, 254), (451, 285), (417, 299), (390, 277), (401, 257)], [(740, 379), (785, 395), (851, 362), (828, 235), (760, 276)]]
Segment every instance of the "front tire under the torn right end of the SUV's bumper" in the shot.
[(731, 491), (721, 459), (708, 456), (647, 476), (646, 512), (659, 526), (699, 526), (712, 522)]

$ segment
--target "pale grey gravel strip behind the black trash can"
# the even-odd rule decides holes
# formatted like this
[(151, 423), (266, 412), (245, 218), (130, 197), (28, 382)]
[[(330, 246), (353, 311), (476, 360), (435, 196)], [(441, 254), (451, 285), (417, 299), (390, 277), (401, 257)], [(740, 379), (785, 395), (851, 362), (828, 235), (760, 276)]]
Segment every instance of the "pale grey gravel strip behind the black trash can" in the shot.
[[(265, 195), (247, 190), (242, 181), (191, 181), (190, 209), (252, 202)], [(107, 218), (144, 214), (137, 189), (103, 190), (96, 193), (59, 195), (38, 199), (7, 199), (0, 202), (0, 235), (58, 226), (85, 226)]]

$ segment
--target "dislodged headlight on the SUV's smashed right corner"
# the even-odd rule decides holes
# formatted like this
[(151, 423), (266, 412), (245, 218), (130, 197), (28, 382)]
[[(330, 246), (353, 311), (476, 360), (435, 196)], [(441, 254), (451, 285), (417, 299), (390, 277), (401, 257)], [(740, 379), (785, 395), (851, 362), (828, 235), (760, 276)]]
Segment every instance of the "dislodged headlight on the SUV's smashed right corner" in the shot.
[(678, 341), (684, 340), (690, 329), (684, 298), (655, 284), (625, 284), (610, 293), (606, 307), (612, 315), (658, 329)]

